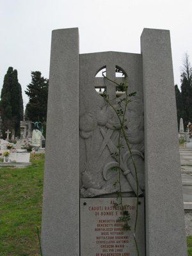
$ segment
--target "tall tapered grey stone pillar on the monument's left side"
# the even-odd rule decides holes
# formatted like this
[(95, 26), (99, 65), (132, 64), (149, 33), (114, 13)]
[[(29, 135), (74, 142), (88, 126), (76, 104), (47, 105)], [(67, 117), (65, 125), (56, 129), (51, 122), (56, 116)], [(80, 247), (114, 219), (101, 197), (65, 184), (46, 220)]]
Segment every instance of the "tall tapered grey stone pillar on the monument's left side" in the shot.
[(45, 256), (79, 255), (79, 33), (52, 31), (42, 215)]

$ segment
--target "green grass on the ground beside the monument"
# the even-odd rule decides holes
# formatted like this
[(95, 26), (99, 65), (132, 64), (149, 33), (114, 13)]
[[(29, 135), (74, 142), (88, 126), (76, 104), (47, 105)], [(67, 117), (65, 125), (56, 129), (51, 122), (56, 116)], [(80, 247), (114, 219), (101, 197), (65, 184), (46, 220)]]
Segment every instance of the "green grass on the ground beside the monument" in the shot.
[[(36, 226), (41, 225), (44, 154), (26, 168), (0, 168), (0, 256), (40, 255)], [(188, 236), (192, 256), (192, 236)]]

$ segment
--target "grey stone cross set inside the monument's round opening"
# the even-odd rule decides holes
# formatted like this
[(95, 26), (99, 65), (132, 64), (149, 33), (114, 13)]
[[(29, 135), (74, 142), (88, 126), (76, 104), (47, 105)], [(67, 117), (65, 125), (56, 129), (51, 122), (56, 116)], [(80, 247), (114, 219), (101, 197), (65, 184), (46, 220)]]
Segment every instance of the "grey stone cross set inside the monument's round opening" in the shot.
[[(118, 84), (123, 83), (125, 77), (116, 77), (115, 68), (116, 68), (115, 65), (113, 65), (112, 63), (108, 63), (106, 65), (106, 76)], [(106, 93), (109, 96), (109, 100), (115, 99), (117, 85), (107, 79), (104, 83), (103, 77), (95, 77), (95, 88), (104, 88), (105, 86), (106, 86)]]

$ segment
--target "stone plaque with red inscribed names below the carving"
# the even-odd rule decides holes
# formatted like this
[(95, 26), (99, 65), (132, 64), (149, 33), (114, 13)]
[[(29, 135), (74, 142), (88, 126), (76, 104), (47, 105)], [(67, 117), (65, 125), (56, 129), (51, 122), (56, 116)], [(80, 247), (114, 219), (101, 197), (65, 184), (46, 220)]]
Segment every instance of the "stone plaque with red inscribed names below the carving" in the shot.
[[(80, 199), (81, 256), (136, 256), (134, 244), (134, 221), (136, 198), (123, 198), (123, 205), (130, 213), (131, 230), (124, 230), (120, 206), (116, 198)], [(144, 200), (140, 198), (136, 239), (140, 256), (145, 255)]]

